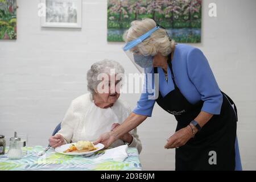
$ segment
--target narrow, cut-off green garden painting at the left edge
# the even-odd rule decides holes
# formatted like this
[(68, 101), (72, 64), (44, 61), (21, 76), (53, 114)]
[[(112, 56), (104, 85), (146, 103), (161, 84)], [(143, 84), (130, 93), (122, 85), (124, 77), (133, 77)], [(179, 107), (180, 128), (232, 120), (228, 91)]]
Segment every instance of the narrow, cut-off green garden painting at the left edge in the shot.
[(0, 0), (0, 39), (16, 39), (16, 0)]

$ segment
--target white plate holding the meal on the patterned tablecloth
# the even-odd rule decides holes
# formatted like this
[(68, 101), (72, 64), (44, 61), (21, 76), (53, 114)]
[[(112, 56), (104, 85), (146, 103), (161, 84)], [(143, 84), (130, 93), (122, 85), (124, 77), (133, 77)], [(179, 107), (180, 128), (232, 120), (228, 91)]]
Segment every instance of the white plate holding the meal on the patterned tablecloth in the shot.
[(69, 148), (69, 146), (71, 146), (72, 144), (76, 144), (76, 143), (64, 144), (63, 146), (55, 148), (55, 152), (58, 152), (60, 154), (65, 154), (65, 155), (87, 155), (87, 154), (93, 154), (94, 152), (97, 152), (97, 151), (101, 150), (102, 148), (104, 148), (104, 144), (98, 143), (98, 144), (94, 145), (97, 149), (89, 151), (89, 152), (63, 152), (65, 150), (67, 150)]

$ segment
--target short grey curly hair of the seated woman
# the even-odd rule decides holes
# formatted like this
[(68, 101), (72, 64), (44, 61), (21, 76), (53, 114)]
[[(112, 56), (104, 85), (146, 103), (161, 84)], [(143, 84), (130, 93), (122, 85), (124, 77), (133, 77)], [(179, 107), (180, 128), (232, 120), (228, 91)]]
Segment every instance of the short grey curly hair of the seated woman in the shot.
[(94, 63), (87, 72), (87, 88), (89, 92), (94, 93), (101, 80), (98, 80), (98, 75), (101, 73), (108, 74), (110, 69), (114, 69), (115, 74), (125, 73), (125, 69), (120, 63), (113, 60), (104, 59)]

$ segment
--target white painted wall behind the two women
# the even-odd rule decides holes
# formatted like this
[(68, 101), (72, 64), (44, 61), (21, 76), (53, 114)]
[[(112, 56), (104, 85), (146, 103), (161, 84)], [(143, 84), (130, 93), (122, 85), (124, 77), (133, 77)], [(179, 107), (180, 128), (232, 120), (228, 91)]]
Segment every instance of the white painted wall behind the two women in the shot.
[[(136, 72), (122, 43), (106, 42), (106, 0), (83, 0), (81, 30), (41, 28), (39, 2), (19, 0), (18, 39), (0, 41), (0, 133), (26, 132), (31, 145), (47, 145), (71, 100), (87, 92), (85, 73), (94, 61), (118, 60), (126, 73)], [(210, 2), (217, 4), (216, 18), (208, 16)], [(256, 169), (255, 7), (255, 0), (205, 0), (202, 40), (193, 44), (208, 57), (220, 88), (236, 101), (242, 164), (249, 170)], [(135, 106), (138, 97), (123, 98)], [(174, 169), (175, 152), (164, 144), (175, 126), (174, 117), (157, 105), (139, 126), (144, 169)]]

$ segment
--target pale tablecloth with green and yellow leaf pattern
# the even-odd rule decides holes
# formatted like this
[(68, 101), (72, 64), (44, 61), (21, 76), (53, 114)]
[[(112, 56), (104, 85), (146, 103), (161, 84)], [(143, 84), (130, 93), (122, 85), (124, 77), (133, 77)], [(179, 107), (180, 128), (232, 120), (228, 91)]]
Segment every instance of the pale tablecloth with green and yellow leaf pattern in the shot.
[(137, 148), (128, 148), (128, 157), (123, 162), (112, 159), (94, 160), (104, 154), (98, 151), (92, 156), (70, 156), (56, 153), (50, 148), (43, 156), (38, 156), (38, 152), (45, 147), (28, 147), (28, 154), (19, 160), (10, 160), (7, 154), (0, 155), (0, 171), (9, 170), (60, 170), (60, 171), (88, 171), (88, 170), (142, 170)]

